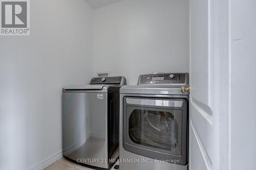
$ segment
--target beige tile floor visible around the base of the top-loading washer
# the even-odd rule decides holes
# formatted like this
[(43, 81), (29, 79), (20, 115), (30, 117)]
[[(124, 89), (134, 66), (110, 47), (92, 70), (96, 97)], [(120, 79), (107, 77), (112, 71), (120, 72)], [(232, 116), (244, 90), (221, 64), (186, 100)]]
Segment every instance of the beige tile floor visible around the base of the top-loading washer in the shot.
[[(111, 170), (114, 170), (114, 166), (111, 168)], [(92, 169), (86, 166), (78, 165), (66, 158), (61, 158), (56, 162), (54, 162), (53, 164), (51, 164), (50, 166), (48, 166), (47, 168), (45, 168), (44, 170), (92, 170)]]

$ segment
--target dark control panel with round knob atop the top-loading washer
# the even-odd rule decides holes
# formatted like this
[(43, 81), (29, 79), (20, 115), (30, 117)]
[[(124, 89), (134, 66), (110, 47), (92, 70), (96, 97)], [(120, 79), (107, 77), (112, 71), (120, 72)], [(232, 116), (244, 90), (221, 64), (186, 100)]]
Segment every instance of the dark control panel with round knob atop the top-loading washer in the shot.
[(123, 83), (126, 83), (126, 80), (124, 77), (97, 77), (92, 78), (90, 84), (117, 84), (117, 85), (123, 85)]

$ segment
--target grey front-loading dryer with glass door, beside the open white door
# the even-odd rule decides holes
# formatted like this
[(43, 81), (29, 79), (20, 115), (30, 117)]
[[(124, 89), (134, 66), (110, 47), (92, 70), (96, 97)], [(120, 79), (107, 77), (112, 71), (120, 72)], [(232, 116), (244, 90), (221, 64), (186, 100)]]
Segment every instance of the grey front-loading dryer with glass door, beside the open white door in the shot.
[(120, 89), (120, 169), (188, 169), (188, 74), (140, 75)]

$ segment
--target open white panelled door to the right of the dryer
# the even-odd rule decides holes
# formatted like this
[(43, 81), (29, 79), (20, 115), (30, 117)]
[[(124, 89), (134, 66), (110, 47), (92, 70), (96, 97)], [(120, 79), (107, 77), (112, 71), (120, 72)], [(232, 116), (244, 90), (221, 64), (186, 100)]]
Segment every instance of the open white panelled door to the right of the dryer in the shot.
[(256, 2), (189, 2), (189, 169), (255, 169)]

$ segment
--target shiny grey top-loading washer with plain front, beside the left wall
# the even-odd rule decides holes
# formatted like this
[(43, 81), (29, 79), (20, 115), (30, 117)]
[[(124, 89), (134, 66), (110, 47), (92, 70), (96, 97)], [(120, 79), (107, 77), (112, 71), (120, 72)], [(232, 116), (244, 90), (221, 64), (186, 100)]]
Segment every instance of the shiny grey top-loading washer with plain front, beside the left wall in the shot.
[(62, 90), (63, 156), (109, 169), (119, 156), (119, 89), (124, 77), (92, 78)]

